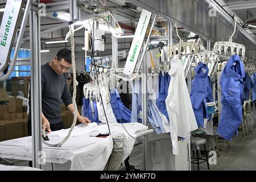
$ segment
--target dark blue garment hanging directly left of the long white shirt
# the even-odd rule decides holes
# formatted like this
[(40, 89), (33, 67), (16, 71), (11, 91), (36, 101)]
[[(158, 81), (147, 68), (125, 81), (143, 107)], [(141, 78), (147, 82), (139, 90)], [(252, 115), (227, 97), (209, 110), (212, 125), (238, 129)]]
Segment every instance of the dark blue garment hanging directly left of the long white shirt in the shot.
[(166, 118), (169, 120), (169, 115), (166, 109), (166, 98), (168, 96), (168, 88), (171, 81), (171, 76), (167, 73), (165, 75), (159, 75), (159, 96), (156, 100), (156, 106), (163, 113)]

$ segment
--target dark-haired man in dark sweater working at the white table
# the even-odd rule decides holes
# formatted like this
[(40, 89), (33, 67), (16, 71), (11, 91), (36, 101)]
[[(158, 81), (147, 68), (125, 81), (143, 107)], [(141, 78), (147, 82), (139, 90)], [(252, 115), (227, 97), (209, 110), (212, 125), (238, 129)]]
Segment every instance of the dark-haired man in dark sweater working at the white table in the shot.
[[(72, 66), (71, 57), (69, 49), (61, 49), (51, 62), (41, 66), (42, 129), (47, 133), (64, 129), (60, 115), (61, 100), (71, 113), (75, 110), (65, 75)], [(29, 97), (29, 106), (28, 135), (31, 136), (31, 97)], [(82, 117), (79, 112), (77, 112), (77, 119), (85, 125), (91, 122), (88, 118)]]

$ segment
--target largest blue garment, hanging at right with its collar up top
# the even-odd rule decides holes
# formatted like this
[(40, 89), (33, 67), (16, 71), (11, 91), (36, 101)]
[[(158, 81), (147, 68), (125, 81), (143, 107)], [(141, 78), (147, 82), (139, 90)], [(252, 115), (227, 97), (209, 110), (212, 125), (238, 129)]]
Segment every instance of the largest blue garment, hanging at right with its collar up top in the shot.
[(220, 78), (222, 111), (217, 131), (226, 140), (232, 140), (242, 123), (243, 77), (245, 69), (240, 57), (231, 56)]

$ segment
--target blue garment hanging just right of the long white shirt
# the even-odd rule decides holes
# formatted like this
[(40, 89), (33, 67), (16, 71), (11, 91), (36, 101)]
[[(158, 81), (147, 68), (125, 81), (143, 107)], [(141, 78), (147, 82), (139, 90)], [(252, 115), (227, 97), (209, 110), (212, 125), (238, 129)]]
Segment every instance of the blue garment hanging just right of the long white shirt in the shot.
[(197, 65), (195, 72), (195, 78), (191, 82), (190, 98), (197, 126), (204, 127), (204, 118), (211, 118), (207, 112), (207, 102), (213, 102), (212, 81), (208, 76), (209, 69), (206, 64)]

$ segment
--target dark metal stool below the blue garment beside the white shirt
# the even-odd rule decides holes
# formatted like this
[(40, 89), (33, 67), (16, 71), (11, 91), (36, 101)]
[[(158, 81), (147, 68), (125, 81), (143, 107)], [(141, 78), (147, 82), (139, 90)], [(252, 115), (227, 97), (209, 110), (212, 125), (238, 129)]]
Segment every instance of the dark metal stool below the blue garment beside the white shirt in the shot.
[[(210, 169), (209, 162), (208, 162), (208, 153), (207, 153), (206, 146), (205, 146), (206, 142), (207, 141), (204, 138), (198, 138), (198, 137), (191, 138), (191, 147), (193, 148), (193, 151), (196, 152), (196, 158), (191, 157), (191, 159), (197, 159), (196, 162), (191, 162), (191, 163), (197, 164), (198, 171), (199, 171), (199, 164), (204, 163), (204, 162), (207, 162), (207, 167), (208, 167), (208, 169)], [(199, 146), (201, 144), (204, 144), (204, 152), (205, 152), (206, 159), (202, 159), (202, 157), (201, 157), (200, 148), (199, 148)], [(199, 158), (199, 154), (200, 154), (200, 158)], [(203, 160), (203, 161), (200, 162), (200, 160)]]

